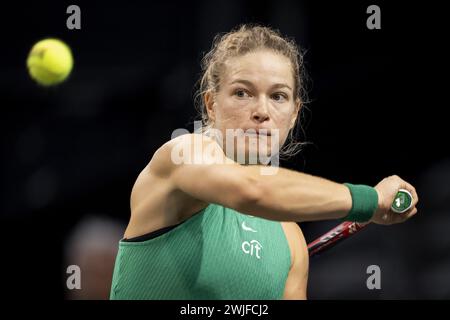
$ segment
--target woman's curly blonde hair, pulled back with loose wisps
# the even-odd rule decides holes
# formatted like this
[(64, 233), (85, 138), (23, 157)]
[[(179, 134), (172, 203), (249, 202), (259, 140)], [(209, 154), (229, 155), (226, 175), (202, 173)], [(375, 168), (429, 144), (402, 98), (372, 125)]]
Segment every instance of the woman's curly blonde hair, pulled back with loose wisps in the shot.
[[(220, 90), (220, 79), (225, 62), (229, 58), (242, 56), (260, 49), (271, 50), (289, 59), (294, 77), (294, 101), (300, 100), (300, 111), (303, 110), (307, 99), (304, 84), (303, 54), (295, 41), (282, 37), (278, 30), (269, 27), (243, 24), (228, 33), (216, 35), (211, 50), (202, 59), (202, 76), (198, 81), (198, 90), (195, 95), (195, 106), (202, 121), (201, 132), (207, 132), (212, 127), (212, 122), (206, 111), (204, 94), (208, 91), (216, 93)], [(299, 127), (299, 118), (300, 116), (297, 117), (297, 123), (289, 131), (286, 142), (280, 150), (280, 157), (282, 158), (297, 154), (303, 145), (303, 143), (296, 141), (297, 133), (295, 131)]]

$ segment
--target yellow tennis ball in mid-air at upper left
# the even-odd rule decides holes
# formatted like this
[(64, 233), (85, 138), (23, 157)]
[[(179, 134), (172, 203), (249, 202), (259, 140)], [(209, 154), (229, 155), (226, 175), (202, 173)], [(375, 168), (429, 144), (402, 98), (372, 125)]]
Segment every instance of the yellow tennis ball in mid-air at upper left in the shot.
[(39, 84), (55, 85), (64, 81), (72, 71), (72, 52), (61, 40), (44, 39), (31, 48), (27, 67), (31, 78)]

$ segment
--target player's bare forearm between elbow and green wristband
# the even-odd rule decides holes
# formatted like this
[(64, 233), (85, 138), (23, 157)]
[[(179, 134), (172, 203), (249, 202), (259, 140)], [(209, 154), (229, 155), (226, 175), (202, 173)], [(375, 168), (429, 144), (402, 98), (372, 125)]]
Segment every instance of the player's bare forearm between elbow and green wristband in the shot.
[(274, 175), (261, 175), (261, 166), (245, 169), (255, 196), (239, 208), (244, 213), (300, 222), (343, 218), (352, 207), (343, 184), (283, 168)]

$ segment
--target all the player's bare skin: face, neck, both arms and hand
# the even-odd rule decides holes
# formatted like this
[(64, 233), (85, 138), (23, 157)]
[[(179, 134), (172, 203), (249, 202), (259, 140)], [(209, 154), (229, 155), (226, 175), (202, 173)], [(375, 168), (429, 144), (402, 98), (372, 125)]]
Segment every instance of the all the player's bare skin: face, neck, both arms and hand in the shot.
[[(289, 129), (295, 125), (301, 107), (301, 101), (294, 99), (293, 89), (289, 60), (271, 51), (260, 50), (226, 61), (219, 91), (208, 91), (204, 99), (208, 115), (220, 132), (230, 128), (278, 129), (281, 146)], [(345, 217), (352, 206), (348, 188), (284, 168), (279, 168), (273, 175), (261, 175), (263, 166), (235, 161), (239, 153), (257, 152), (255, 145), (245, 143), (230, 155), (216, 140), (202, 136), (198, 140), (199, 137), (197, 134), (183, 135), (155, 152), (133, 186), (131, 218), (124, 237), (132, 238), (180, 223), (209, 203), (280, 221), (291, 252), (283, 298), (306, 299), (308, 251), (296, 222)], [(202, 148), (196, 148), (199, 145)], [(186, 149), (186, 154), (199, 156), (202, 161), (175, 163), (173, 152), (180, 146), (194, 146)], [(270, 143), (267, 147), (270, 148)], [(409, 190), (414, 202), (406, 213), (395, 214), (389, 208), (400, 188)], [(385, 178), (375, 189), (379, 206), (371, 222), (399, 223), (416, 214), (417, 193), (398, 176)]]

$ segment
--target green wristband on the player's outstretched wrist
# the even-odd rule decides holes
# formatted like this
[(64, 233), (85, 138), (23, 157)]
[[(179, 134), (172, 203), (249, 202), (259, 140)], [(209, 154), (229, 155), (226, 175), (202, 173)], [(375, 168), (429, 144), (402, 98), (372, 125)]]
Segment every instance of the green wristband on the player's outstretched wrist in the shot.
[(363, 184), (344, 183), (352, 195), (352, 209), (344, 218), (345, 221), (367, 222), (378, 208), (377, 191)]

